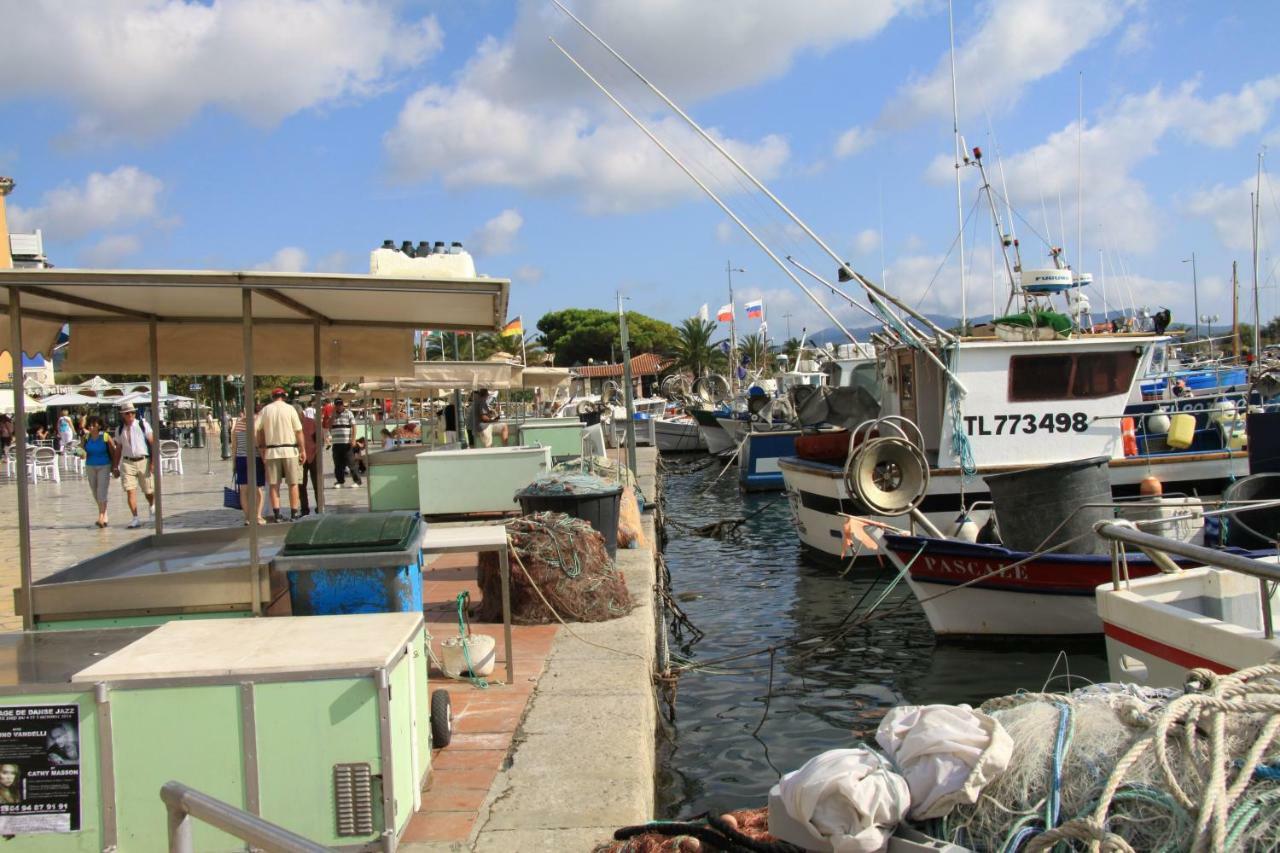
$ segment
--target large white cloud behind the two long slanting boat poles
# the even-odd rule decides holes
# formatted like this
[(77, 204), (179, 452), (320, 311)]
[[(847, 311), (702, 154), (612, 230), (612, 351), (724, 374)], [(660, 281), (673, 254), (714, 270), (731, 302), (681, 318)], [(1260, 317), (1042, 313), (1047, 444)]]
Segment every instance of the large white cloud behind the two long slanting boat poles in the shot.
[[(726, 15), (714, 4), (677, 0), (580, 0), (575, 10), (685, 106), (785, 73), (794, 59), (878, 33), (923, 0), (838, 0), (778, 14), (771, 0), (739, 0)], [(449, 187), (502, 186), (575, 193), (591, 213), (653, 209), (692, 197), (692, 183), (547, 42), (552, 32), (660, 138), (690, 159), (709, 151), (655, 99), (617, 85), (616, 60), (558, 10), (522, 3), (512, 31), (488, 38), (451, 86), (410, 96), (384, 138), (398, 179), (440, 178)], [(708, 40), (707, 32), (717, 37)], [(611, 79), (612, 78), (612, 79)], [(778, 136), (721, 142), (763, 179), (790, 150)], [(698, 159), (694, 156), (692, 159)], [(726, 188), (719, 181), (718, 190)]]

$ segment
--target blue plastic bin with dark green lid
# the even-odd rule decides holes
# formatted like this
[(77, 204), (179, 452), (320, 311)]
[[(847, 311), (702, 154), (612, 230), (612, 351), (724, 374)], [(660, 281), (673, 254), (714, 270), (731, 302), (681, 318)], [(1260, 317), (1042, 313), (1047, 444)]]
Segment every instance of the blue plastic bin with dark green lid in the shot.
[(289, 580), (294, 616), (421, 612), (420, 533), (416, 512), (300, 521), (271, 567)]

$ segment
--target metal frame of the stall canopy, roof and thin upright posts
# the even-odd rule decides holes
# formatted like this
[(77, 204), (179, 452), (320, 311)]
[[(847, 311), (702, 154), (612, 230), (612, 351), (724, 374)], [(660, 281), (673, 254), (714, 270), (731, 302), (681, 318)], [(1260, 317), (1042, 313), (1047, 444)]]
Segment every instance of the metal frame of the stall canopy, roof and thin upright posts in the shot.
[[(387, 329), (448, 328), (467, 332), (497, 332), (506, 321), (507, 297), (511, 282), (494, 278), (416, 279), (385, 275), (330, 275), (316, 273), (243, 273), (216, 270), (78, 270), (78, 269), (0, 269), (0, 289), (8, 292), (8, 301), (0, 304), (0, 313), (9, 316), (9, 350), (26, 352), (23, 346), (23, 316), (36, 320), (72, 323), (129, 323), (147, 325), (148, 361), (151, 374), (151, 400), (160, 398), (159, 328), (168, 324), (238, 323), (242, 329), (243, 356), (227, 362), (227, 373), (239, 368), (244, 386), (252, 397), (253, 389), (253, 330), (262, 325), (311, 325), (315, 350), (316, 394), (320, 394), (320, 329), (323, 327), (372, 327)], [(211, 296), (211, 291), (214, 292)], [(253, 315), (253, 295), (269, 302), (265, 316)], [(238, 298), (236, 298), (238, 296)], [(343, 298), (355, 296), (356, 300)], [(424, 315), (429, 297), (433, 305), (449, 297), (488, 297), (492, 315), (484, 323), (460, 323), (449, 318), (433, 320)], [(114, 302), (105, 301), (113, 298)], [(312, 302), (346, 302), (356, 319), (334, 316)], [(346, 309), (343, 309), (346, 310)], [(22, 362), (14, 356), (14, 364)], [(15, 371), (17, 373), (17, 371)], [(215, 371), (216, 373), (216, 371)], [(248, 457), (257, 456), (253, 424), (253, 406), (246, 403), (246, 432)], [(159, 446), (159, 405), (151, 406), (151, 432)], [(26, 423), (26, 405), (22, 394), (14, 394), (14, 420)], [(35, 628), (35, 602), (32, 593), (31, 562), (31, 502), (27, 489), (27, 446), (23, 437), (17, 444), (18, 456), (18, 552), (24, 630)], [(324, 482), (324, 421), (316, 423), (316, 479)], [(154, 453), (154, 456), (159, 456)], [(164, 533), (163, 482), (159, 460), (152, 459), (154, 517), (156, 534)], [(250, 501), (257, 500), (257, 470), (246, 465)], [(316, 507), (324, 510), (324, 489), (317, 491)], [(260, 516), (261, 506), (255, 507)], [(257, 524), (250, 529), (250, 576), (253, 615), (262, 615), (261, 565), (259, 565)]]

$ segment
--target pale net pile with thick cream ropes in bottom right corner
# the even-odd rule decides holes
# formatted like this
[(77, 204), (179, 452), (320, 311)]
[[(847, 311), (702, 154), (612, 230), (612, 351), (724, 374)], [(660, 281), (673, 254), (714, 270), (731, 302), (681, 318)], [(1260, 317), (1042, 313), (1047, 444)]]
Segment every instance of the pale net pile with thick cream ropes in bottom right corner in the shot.
[(932, 827), (974, 850), (1274, 850), (1280, 666), (1197, 670), (1188, 692), (1096, 685), (992, 699), (1014, 742), (977, 803)]

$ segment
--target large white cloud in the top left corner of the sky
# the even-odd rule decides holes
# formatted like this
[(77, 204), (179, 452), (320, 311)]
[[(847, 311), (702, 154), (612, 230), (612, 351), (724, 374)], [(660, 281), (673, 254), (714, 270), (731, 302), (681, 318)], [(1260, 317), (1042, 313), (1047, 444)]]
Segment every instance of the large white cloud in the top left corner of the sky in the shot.
[(27, 0), (6, 15), (0, 97), (64, 97), (81, 141), (146, 138), (206, 106), (256, 124), (380, 91), (439, 50), (393, 0)]

